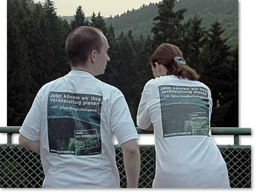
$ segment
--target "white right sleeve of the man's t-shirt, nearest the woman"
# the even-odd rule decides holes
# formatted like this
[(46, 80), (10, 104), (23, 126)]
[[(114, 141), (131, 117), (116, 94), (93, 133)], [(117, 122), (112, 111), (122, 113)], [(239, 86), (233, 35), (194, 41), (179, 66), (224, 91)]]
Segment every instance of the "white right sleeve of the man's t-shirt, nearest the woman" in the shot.
[(113, 104), (110, 113), (110, 128), (118, 145), (131, 139), (138, 139), (138, 133), (124, 96), (117, 98)]

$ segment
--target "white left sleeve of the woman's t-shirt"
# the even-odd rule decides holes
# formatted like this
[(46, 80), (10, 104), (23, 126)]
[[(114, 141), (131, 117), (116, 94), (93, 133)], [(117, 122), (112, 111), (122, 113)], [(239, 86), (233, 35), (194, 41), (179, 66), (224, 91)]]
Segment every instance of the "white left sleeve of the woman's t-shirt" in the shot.
[(141, 129), (147, 129), (151, 125), (151, 119), (148, 110), (148, 97), (149, 96), (149, 89), (147, 84), (145, 85), (142, 98), (139, 104), (138, 113), (137, 113), (137, 125)]

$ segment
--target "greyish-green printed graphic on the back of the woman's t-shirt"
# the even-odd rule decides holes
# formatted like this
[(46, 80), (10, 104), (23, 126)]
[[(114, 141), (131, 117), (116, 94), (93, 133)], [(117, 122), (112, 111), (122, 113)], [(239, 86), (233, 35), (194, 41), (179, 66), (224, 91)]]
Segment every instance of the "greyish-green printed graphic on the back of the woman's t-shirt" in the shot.
[(158, 87), (163, 137), (208, 135), (209, 99), (204, 87)]

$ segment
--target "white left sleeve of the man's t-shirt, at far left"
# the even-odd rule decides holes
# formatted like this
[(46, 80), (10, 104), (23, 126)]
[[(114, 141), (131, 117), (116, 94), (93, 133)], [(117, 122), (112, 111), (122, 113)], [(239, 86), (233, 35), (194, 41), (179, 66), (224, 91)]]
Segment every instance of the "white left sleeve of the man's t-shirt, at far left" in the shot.
[(41, 97), (37, 95), (22, 127), (20, 128), (20, 133), (23, 136), (32, 141), (40, 140), (42, 113)]

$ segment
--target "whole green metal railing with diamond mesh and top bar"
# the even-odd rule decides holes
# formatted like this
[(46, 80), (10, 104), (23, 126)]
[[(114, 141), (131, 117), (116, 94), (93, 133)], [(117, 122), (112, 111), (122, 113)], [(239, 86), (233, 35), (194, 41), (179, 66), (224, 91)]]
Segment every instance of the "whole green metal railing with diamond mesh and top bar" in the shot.
[[(0, 127), (7, 133), (7, 144), (0, 144), (0, 187), (41, 187), (44, 172), (40, 155), (18, 144), (12, 144), (12, 134), (20, 127)], [(153, 133), (137, 128), (139, 134)], [(211, 128), (213, 135), (234, 135), (234, 145), (217, 145), (223, 156), (229, 175), (230, 187), (251, 187), (251, 147), (239, 145), (239, 135), (250, 135), (250, 128)], [(140, 145), (141, 173), (139, 187), (152, 187), (155, 177), (155, 147)], [(120, 187), (126, 187), (122, 150), (115, 145), (116, 165), (120, 175)]]

